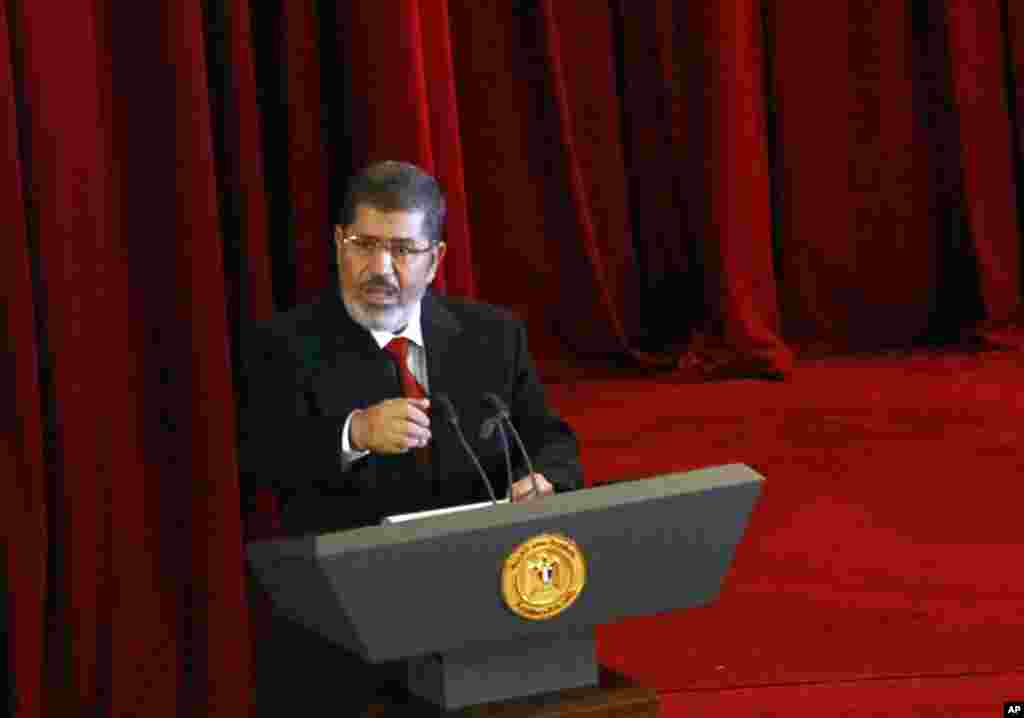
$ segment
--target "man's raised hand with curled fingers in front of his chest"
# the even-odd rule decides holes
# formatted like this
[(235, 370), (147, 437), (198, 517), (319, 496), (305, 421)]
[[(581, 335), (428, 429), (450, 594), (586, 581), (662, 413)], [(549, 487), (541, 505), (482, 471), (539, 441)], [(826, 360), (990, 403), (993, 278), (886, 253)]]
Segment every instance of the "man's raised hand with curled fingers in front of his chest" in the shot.
[(430, 399), (389, 398), (356, 412), (349, 426), (352, 449), (403, 454), (430, 440)]

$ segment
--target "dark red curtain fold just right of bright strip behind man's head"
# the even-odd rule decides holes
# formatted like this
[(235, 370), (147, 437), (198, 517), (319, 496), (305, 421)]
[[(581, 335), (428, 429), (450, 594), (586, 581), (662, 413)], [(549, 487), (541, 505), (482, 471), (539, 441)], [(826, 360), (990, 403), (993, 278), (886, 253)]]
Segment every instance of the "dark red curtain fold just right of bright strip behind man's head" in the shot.
[(547, 357), (565, 351), (554, 315), (574, 219), (535, 5), (450, 3), (449, 27), (477, 296), (525, 319)]

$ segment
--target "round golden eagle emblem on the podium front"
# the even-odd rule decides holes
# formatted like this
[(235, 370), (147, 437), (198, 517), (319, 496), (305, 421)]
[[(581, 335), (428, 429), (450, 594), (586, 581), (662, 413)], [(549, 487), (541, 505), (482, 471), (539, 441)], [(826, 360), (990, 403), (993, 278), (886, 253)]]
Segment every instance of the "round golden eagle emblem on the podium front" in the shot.
[(586, 583), (587, 565), (577, 543), (566, 536), (541, 534), (505, 559), (502, 596), (513, 613), (543, 621), (572, 605)]

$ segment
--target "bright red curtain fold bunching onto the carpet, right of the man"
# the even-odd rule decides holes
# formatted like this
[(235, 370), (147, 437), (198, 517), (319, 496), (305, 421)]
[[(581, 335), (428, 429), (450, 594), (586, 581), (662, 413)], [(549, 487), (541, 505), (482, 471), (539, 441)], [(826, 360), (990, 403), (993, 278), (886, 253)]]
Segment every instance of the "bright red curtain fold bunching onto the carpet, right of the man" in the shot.
[[(688, 19), (705, 38), (706, 301), (716, 340), (685, 353), (697, 376), (781, 376), (793, 353), (778, 331), (771, 251), (760, 15), (750, 0), (716, 3)], [(692, 88), (695, 90), (695, 88)]]

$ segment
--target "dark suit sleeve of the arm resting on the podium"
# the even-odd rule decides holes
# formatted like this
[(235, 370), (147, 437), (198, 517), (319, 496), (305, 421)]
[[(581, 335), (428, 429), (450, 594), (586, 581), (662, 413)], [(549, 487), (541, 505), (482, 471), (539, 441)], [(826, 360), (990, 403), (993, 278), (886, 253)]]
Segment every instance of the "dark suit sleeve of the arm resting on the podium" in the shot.
[(534, 469), (544, 474), (557, 492), (582, 489), (583, 467), (575, 434), (548, 406), (526, 345), (525, 325), (513, 322), (512, 334), (509, 408)]

